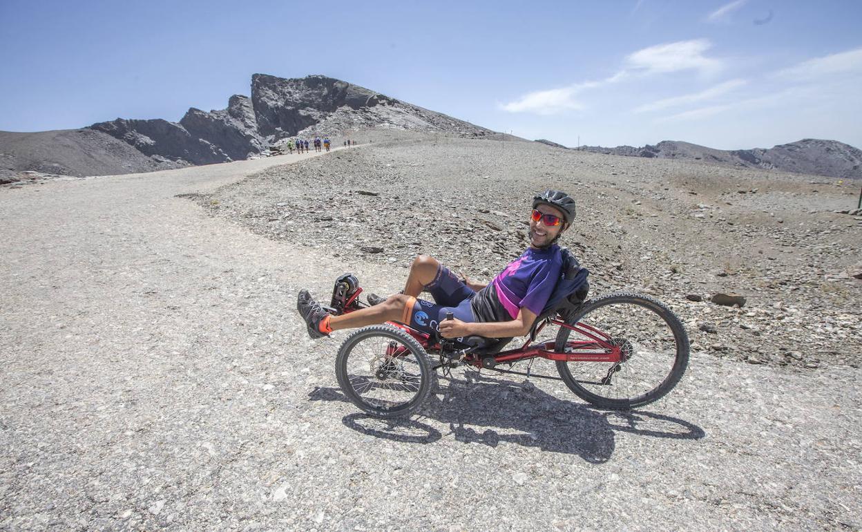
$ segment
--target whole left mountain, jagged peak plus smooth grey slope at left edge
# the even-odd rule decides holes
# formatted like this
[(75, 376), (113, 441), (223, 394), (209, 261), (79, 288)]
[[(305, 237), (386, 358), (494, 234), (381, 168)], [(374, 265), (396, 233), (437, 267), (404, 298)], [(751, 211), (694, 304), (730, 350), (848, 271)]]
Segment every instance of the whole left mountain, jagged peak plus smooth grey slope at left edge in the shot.
[[(462, 137), (506, 136), (340, 79), (252, 77), (251, 97), (223, 110), (191, 108), (179, 122), (117, 118), (89, 128), (0, 132), (0, 176), (146, 172), (247, 159), (295, 135), (347, 138), (369, 129)], [(338, 145), (340, 142), (336, 142)]]

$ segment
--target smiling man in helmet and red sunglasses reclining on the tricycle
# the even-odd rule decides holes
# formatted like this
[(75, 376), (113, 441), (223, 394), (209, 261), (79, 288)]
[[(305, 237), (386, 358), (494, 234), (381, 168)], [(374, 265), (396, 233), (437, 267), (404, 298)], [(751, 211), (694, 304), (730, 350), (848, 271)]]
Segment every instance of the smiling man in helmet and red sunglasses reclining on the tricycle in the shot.
[[(368, 308), (334, 316), (303, 289), (297, 310), (312, 338), (390, 321), (403, 322), (429, 335), (439, 331), (444, 338), (527, 335), (559, 280), (563, 259), (556, 241), (574, 217), (575, 200), (565, 192), (547, 190), (536, 195), (529, 247), (489, 285), (458, 279), (434, 257), (419, 255), (410, 267), (404, 290), (385, 299), (369, 296), (372, 306)], [(418, 299), (422, 291), (430, 292), (434, 303)], [(447, 320), (450, 312), (454, 317)]]

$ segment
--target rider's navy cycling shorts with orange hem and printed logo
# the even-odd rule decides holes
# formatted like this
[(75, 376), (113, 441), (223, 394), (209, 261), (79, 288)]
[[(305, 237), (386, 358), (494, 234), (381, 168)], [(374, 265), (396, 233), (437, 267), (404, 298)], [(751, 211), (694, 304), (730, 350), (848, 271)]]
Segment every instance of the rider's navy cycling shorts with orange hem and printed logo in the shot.
[(425, 289), (434, 297), (434, 303), (414, 297), (414, 304), (404, 307), (402, 322), (413, 329), (433, 334), (437, 331), (438, 324), (446, 319), (447, 312), (452, 312), (462, 322), (476, 321), (470, 308), (476, 291), (455, 277), (446, 266), (438, 266), (437, 275), (431, 283), (425, 285)]

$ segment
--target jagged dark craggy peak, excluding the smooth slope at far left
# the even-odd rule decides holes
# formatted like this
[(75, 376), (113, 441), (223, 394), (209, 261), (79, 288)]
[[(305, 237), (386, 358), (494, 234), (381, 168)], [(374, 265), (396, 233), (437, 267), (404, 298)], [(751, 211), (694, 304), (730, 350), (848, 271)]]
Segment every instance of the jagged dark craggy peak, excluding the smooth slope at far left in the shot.
[(359, 128), (417, 129), (446, 135), (495, 135), (490, 129), (326, 76), (252, 77), (252, 96), (230, 97), (228, 108), (190, 109), (179, 122), (123, 120), (91, 128), (141, 153), (194, 165), (246, 159), (295, 135), (343, 135)]

